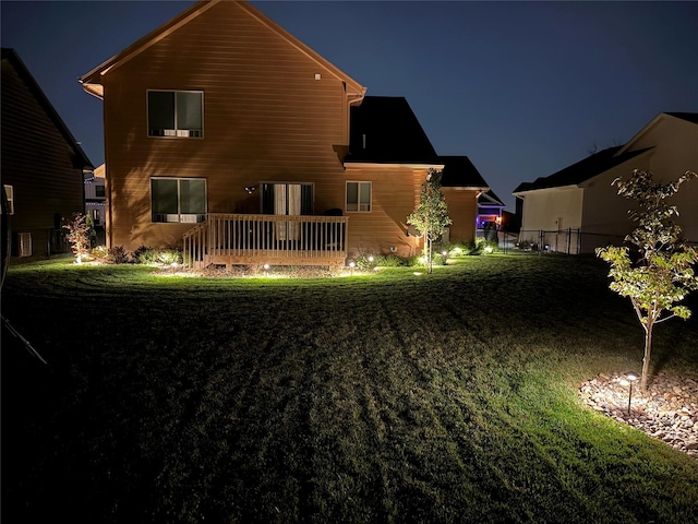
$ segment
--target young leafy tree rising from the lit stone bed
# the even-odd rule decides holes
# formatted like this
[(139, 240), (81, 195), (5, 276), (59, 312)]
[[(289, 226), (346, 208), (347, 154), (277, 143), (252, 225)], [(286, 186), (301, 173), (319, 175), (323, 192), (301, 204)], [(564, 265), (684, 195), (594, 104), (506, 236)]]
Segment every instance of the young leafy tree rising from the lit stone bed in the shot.
[(688, 308), (675, 302), (698, 289), (698, 277), (693, 270), (698, 251), (681, 238), (681, 227), (672, 221), (678, 211), (665, 202), (682, 183), (696, 177), (695, 172), (686, 171), (676, 181), (662, 184), (652, 181), (650, 171), (636, 169), (627, 181), (613, 181), (618, 186), (618, 194), (639, 204), (639, 211), (628, 212), (638, 227), (626, 237), (626, 241), (637, 247), (638, 253), (634, 261), (628, 248), (609, 246), (597, 249), (597, 255), (611, 264), (611, 289), (630, 299), (645, 330), (642, 391), (647, 388), (652, 329), (673, 317), (687, 319), (690, 315)]

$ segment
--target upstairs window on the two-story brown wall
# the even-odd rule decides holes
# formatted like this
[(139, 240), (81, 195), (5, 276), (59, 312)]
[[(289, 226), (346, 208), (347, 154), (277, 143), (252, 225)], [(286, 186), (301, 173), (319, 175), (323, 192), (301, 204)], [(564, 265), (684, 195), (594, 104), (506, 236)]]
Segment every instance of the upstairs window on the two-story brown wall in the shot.
[(148, 136), (204, 135), (202, 91), (148, 91)]

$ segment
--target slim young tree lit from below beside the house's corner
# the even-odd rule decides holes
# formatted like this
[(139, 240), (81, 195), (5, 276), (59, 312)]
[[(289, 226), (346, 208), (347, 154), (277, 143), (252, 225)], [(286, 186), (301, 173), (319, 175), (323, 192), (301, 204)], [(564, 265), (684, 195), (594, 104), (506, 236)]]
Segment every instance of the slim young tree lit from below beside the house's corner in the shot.
[(448, 205), (441, 190), (443, 172), (430, 169), (422, 183), (420, 203), (407, 217), (407, 223), (414, 226), (424, 236), (424, 255), (428, 260), (429, 273), (432, 272), (432, 246), (453, 224), (448, 217)]

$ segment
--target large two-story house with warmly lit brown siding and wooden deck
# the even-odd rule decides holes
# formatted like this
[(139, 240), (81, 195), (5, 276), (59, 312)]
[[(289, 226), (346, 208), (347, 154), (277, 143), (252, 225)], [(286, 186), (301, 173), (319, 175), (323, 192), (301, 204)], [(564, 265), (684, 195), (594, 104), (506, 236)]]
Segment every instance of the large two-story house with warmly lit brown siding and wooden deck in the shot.
[[(406, 219), (444, 166), (407, 100), (248, 2), (197, 2), (80, 82), (104, 103), (110, 247), (183, 241), (193, 265), (419, 249)], [(465, 235), (481, 190), (459, 190)]]

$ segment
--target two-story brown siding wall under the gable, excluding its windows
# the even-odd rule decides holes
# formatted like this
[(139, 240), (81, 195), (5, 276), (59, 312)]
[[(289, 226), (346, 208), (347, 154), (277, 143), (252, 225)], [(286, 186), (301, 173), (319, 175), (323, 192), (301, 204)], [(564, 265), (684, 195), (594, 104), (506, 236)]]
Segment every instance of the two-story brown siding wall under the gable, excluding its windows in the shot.
[[(103, 80), (109, 246), (177, 245), (191, 228), (152, 223), (156, 176), (205, 178), (209, 213), (260, 213), (260, 191), (245, 188), (262, 181), (313, 182), (315, 214), (344, 209), (342, 82), (237, 2), (212, 7)], [(149, 138), (146, 90), (203, 91), (204, 136)]]

